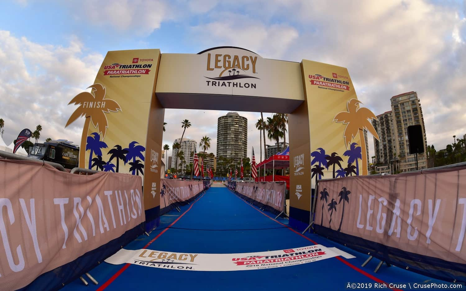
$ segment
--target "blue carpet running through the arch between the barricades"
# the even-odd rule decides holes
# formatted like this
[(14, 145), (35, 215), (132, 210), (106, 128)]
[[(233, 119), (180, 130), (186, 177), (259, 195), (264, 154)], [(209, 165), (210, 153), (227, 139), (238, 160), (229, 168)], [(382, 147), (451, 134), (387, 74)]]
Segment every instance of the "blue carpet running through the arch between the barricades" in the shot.
[[(171, 228), (165, 230), (182, 215)], [(269, 214), (270, 215), (270, 214)], [(279, 218), (288, 225), (288, 219)], [(281, 250), (312, 245), (306, 237), (327, 247), (337, 247), (356, 258), (344, 259), (357, 268), (387, 283), (439, 282), (397, 267), (385, 264), (378, 273), (373, 270), (378, 263), (373, 259), (365, 268), (360, 265), (366, 255), (335, 244), (324, 237), (307, 234), (303, 237), (284, 225), (261, 214), (256, 207), (245, 203), (226, 188), (211, 188), (191, 205), (181, 207), (181, 212), (171, 212), (161, 217), (158, 229), (149, 237), (141, 236), (126, 249), (143, 248), (154, 237), (165, 231), (148, 249), (187, 253), (244, 253)], [(64, 290), (97, 290), (122, 265), (101, 263), (89, 273), (99, 285), (84, 286), (80, 280), (66, 285)], [(89, 281), (89, 280), (88, 280)], [(346, 290), (348, 283), (372, 283), (375, 281), (361, 271), (343, 264), (338, 258), (330, 258), (308, 264), (283, 268), (251, 271), (178, 271), (129, 265), (105, 290)], [(409, 288), (407, 288), (409, 289)], [(348, 289), (349, 290), (349, 289)], [(390, 290), (377, 289), (377, 290)], [(428, 289), (423, 289), (428, 290)], [(435, 289), (432, 289), (435, 290)]]

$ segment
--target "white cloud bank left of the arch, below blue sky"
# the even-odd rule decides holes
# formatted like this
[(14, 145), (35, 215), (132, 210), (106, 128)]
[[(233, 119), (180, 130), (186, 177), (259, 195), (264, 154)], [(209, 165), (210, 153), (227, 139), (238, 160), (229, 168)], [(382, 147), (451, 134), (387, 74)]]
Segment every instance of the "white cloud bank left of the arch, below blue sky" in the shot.
[(0, 31), (0, 117), (3, 139), (12, 142), (24, 128), (41, 124), (41, 141), (80, 142), (83, 120), (65, 129), (75, 108), (69, 100), (94, 81), (103, 61), (100, 54), (83, 54), (83, 44), (72, 37), (67, 46), (41, 45)]

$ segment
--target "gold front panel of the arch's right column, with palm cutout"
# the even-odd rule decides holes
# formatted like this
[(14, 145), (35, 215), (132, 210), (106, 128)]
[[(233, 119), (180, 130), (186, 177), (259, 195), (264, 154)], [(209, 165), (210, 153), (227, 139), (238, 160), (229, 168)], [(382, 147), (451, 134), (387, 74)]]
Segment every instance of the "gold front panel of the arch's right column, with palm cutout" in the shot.
[(361, 107), (346, 68), (307, 60), (302, 67), (309, 104), (313, 187), (318, 179), (367, 175), (368, 145), (363, 130), (378, 138), (371, 123), (376, 116)]

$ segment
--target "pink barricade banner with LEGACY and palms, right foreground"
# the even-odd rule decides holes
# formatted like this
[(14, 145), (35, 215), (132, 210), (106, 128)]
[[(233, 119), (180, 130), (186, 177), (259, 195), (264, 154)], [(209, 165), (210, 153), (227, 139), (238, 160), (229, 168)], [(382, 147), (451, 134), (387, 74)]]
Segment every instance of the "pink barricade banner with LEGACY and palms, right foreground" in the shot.
[(466, 168), (321, 180), (315, 231), (389, 264), (466, 281)]

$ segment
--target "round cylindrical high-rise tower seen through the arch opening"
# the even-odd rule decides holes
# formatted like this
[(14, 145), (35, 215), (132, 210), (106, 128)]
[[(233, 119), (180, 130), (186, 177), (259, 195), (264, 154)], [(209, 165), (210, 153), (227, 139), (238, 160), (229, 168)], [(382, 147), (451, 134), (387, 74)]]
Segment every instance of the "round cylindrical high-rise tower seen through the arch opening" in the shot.
[(247, 157), (247, 118), (236, 112), (220, 116), (217, 123), (217, 157), (239, 163)]

